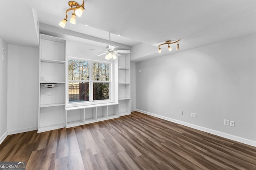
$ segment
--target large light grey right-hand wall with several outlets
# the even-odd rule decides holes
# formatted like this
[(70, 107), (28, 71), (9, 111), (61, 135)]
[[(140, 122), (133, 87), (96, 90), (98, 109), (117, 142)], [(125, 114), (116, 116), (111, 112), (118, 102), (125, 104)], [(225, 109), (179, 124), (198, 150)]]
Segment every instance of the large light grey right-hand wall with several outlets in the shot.
[(255, 145), (255, 56), (253, 34), (136, 63), (136, 109)]

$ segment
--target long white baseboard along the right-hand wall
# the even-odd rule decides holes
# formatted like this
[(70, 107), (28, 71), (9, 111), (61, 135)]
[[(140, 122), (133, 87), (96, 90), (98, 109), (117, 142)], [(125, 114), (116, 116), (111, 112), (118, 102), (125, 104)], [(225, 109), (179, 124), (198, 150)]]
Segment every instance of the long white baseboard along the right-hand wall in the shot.
[(193, 124), (190, 124), (190, 123), (186, 123), (186, 122), (184, 122), (184, 121), (179, 121), (179, 120), (176, 120), (176, 119), (172, 119), (172, 118), (169, 118), (169, 117), (157, 115), (157, 114), (150, 113), (150, 112), (147, 112), (147, 111), (143, 111), (143, 110), (140, 110), (140, 109), (136, 109), (136, 111), (141, 112), (141, 113), (144, 113), (144, 114), (147, 114), (147, 115), (151, 115), (151, 116), (154, 116), (154, 117), (158, 117), (158, 118), (160, 118), (160, 119), (164, 119), (164, 120), (167, 120), (167, 121), (171, 121), (171, 122), (174, 122), (174, 123), (178, 123), (178, 124), (180, 124), (180, 125), (184, 125), (184, 126), (187, 126), (187, 127), (191, 127), (191, 128), (193, 128), (193, 129), (197, 129), (197, 130), (200, 130), (200, 131), (204, 131), (204, 132), (207, 132), (207, 133), (211, 133), (211, 134), (213, 134), (213, 135), (217, 135), (217, 136), (220, 136), (220, 137), (224, 137), (224, 138), (227, 138), (227, 139), (231, 139), (231, 140), (233, 140), (233, 141), (237, 141), (237, 142), (240, 142), (240, 143), (244, 143), (244, 144), (246, 144), (246, 145), (250, 145), (250, 146), (256, 147), (256, 141), (252, 141), (252, 140), (245, 139), (245, 138), (242, 138), (242, 137), (230, 135), (230, 134), (223, 133), (223, 132), (220, 132), (220, 131), (215, 131), (215, 130), (212, 130), (212, 129), (208, 129), (208, 128), (206, 128), (206, 127), (201, 127), (201, 126), (198, 126), (198, 125), (193, 125)]

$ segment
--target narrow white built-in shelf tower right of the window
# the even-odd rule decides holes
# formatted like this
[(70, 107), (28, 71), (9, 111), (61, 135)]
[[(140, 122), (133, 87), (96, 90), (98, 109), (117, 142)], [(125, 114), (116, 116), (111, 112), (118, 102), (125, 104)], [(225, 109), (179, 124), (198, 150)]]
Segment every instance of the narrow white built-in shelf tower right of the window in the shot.
[(118, 57), (119, 115), (131, 114), (130, 102), (130, 54)]

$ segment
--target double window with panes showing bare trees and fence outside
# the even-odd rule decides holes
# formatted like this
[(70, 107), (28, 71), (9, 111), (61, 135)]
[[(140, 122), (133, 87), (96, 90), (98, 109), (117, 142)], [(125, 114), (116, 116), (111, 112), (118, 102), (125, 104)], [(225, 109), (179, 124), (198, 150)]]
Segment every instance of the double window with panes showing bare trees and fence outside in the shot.
[(68, 59), (68, 103), (105, 101), (111, 99), (111, 63)]

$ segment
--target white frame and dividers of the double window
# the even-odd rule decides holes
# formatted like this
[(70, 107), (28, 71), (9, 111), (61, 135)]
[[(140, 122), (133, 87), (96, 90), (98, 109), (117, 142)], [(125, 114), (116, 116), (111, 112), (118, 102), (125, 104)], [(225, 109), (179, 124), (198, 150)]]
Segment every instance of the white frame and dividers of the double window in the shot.
[[(89, 80), (69, 80), (68, 78), (68, 63), (69, 60), (78, 60), (78, 61), (88, 61), (89, 62)], [(68, 56), (66, 60), (66, 107), (74, 107), (74, 106), (87, 106), (87, 105), (94, 105), (94, 104), (107, 104), (114, 102), (114, 64), (110, 61), (100, 61), (100, 60), (92, 60), (92, 59), (85, 59), (79, 57), (71, 57)], [(108, 81), (99, 81), (93, 80), (93, 63), (106, 63), (109, 64), (108, 74), (109, 80)], [(89, 101), (82, 101), (82, 102), (69, 102), (69, 82), (89, 82)], [(108, 92), (108, 99), (105, 100), (93, 100), (93, 83), (108, 83), (109, 92)]]

